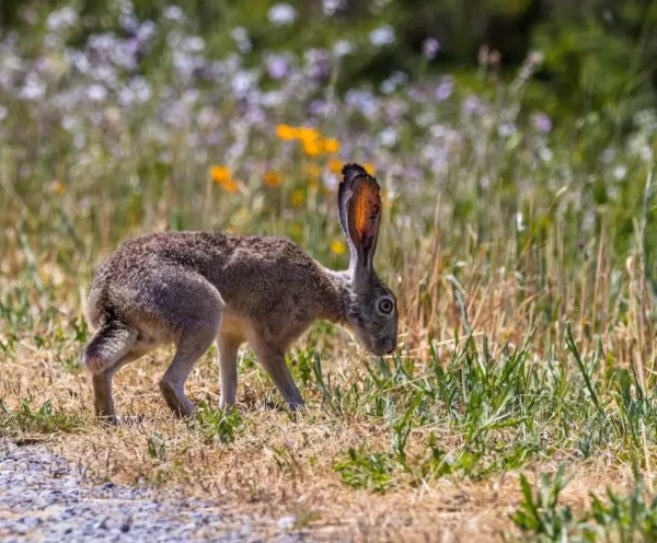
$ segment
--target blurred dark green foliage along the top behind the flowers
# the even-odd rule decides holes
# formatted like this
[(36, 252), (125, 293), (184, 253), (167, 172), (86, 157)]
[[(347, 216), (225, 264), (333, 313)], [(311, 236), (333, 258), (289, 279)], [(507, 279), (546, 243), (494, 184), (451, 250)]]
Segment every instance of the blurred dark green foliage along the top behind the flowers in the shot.
[[(170, 0), (132, 3), (137, 16), (153, 21), (174, 4)], [(657, 8), (653, 0), (297, 0), (289, 2), (297, 11), (296, 21), (283, 26), (267, 18), (276, 3), (181, 0), (176, 4), (217, 56), (235, 49), (230, 31), (237, 26), (247, 30), (253, 58), (268, 50), (302, 54), (349, 41), (357, 54), (345, 59), (342, 88), (359, 80), (380, 81), (394, 70), (412, 77), (462, 73), (482, 61), (492, 61), (505, 77), (537, 50), (544, 62), (525, 96), (530, 107), (540, 105), (556, 118), (597, 112), (622, 130), (636, 111), (655, 103)], [(92, 32), (124, 32), (115, 16), (120, 0), (3, 0), (0, 33), (24, 27), (28, 12), (44, 15), (43, 24), (47, 12), (65, 4), (83, 14), (84, 24), (71, 36), (73, 41)], [(384, 24), (394, 28), (394, 46), (372, 47), (369, 34)], [(427, 38), (439, 43), (430, 61), (423, 56)], [(482, 46), (487, 46), (484, 56)]]

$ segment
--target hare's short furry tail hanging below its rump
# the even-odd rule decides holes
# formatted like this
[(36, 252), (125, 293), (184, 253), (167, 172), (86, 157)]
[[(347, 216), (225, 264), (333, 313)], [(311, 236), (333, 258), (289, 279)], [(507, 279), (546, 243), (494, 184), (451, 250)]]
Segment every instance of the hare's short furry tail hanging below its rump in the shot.
[(95, 332), (84, 348), (82, 362), (94, 376), (104, 373), (130, 350), (137, 331), (117, 322), (106, 322)]

